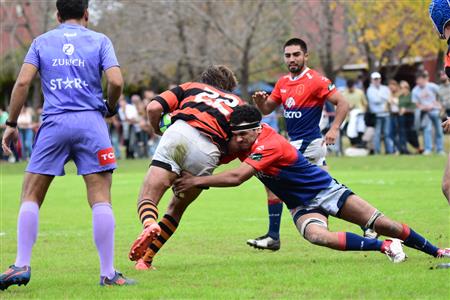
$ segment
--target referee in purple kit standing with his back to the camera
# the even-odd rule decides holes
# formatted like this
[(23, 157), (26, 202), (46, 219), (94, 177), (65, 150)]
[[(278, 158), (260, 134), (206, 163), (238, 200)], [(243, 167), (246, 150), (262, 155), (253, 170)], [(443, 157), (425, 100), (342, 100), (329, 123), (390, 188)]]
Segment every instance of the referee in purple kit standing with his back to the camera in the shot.
[[(0, 275), (0, 289), (27, 284), (39, 224), (39, 208), (55, 176), (73, 160), (86, 184), (92, 208), (95, 245), (100, 258), (100, 285), (128, 285), (114, 268), (115, 220), (111, 207), (114, 151), (104, 117), (113, 116), (123, 87), (114, 48), (104, 34), (87, 29), (88, 0), (57, 0), (56, 29), (31, 44), (14, 85), (2, 147), (11, 152), (17, 140), (17, 117), (31, 82), (39, 72), (44, 95), (43, 122), (25, 171), (17, 221), (16, 261)], [(103, 100), (102, 74), (108, 83)], [(64, 200), (62, 200), (64, 201)]]

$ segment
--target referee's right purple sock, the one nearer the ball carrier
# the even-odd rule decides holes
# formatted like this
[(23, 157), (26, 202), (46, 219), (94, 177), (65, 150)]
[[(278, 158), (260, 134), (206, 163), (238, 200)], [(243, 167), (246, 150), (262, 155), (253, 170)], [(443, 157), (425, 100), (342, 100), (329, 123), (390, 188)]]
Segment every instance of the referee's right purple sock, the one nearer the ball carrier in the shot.
[(94, 242), (100, 257), (100, 275), (114, 277), (114, 214), (109, 203), (92, 206)]

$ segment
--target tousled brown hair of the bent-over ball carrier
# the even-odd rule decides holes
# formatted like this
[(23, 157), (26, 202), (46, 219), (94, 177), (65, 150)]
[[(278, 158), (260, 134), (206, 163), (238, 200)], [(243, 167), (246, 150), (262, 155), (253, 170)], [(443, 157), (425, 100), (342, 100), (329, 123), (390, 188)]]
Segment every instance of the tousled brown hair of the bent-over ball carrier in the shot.
[(232, 92), (237, 86), (237, 79), (233, 71), (224, 65), (209, 66), (200, 75), (200, 81), (228, 92)]

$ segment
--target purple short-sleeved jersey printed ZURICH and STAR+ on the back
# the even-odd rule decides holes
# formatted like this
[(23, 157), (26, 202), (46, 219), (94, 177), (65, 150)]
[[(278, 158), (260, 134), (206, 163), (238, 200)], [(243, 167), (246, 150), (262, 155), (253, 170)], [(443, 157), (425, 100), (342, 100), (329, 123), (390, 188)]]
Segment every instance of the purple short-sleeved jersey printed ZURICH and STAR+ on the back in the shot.
[(61, 24), (37, 37), (24, 62), (36, 66), (41, 75), (44, 117), (67, 111), (104, 112), (102, 72), (119, 66), (107, 36), (76, 24)]

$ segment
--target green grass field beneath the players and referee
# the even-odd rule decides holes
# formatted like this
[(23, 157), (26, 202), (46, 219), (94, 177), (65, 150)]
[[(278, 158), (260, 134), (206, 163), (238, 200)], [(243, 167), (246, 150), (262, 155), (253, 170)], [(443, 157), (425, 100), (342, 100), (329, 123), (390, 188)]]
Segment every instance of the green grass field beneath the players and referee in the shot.
[[(408, 223), (438, 246), (450, 246), (450, 206), (440, 191), (441, 156), (378, 156), (328, 159), (332, 175), (386, 215)], [(136, 197), (148, 161), (120, 161), (113, 180), (116, 267), (138, 280), (125, 288), (98, 286), (98, 259), (85, 188), (75, 168), (56, 178), (40, 213), (38, 241), (27, 287), (10, 287), (1, 299), (449, 299), (450, 270), (405, 248), (407, 262), (394, 265), (375, 252), (338, 252), (300, 237), (283, 212), (281, 250), (264, 252), (245, 241), (265, 233), (262, 185), (204, 192), (155, 259), (156, 271), (138, 272), (128, 261), (140, 232)], [(231, 166), (235, 166), (232, 164)], [(227, 166), (226, 168), (229, 168)], [(14, 262), (16, 218), (24, 164), (1, 164), (0, 267)], [(224, 169), (224, 168), (221, 168)], [(160, 205), (162, 215), (167, 196)], [(332, 230), (360, 233), (331, 219)], [(448, 261), (448, 259), (446, 260)], [(442, 261), (441, 261), (442, 262)]]

